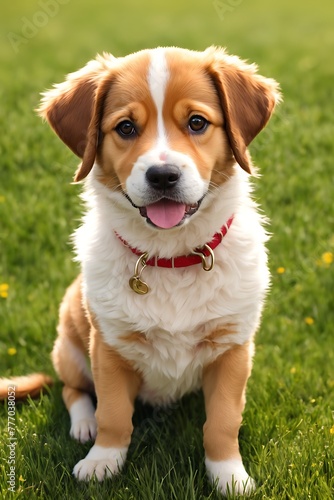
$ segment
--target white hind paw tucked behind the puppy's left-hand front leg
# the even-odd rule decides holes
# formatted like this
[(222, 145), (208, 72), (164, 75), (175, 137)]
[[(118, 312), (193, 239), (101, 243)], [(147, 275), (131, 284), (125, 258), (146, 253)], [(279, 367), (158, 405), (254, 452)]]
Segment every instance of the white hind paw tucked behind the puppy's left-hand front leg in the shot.
[(88, 394), (83, 394), (75, 401), (69, 409), (71, 417), (70, 435), (81, 443), (94, 440), (97, 425), (95, 420), (95, 408)]

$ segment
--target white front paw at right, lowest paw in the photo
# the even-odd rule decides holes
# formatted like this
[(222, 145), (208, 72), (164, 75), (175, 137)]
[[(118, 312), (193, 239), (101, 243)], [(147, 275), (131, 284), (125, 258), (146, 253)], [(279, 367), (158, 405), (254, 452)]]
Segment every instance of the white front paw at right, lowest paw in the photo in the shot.
[(249, 495), (255, 490), (254, 480), (247, 474), (240, 459), (215, 462), (205, 460), (208, 476), (223, 494)]

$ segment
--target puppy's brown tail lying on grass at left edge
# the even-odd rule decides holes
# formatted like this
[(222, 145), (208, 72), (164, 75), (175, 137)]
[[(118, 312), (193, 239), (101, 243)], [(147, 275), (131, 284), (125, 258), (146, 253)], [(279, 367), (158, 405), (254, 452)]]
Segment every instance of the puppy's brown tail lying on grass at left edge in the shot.
[(47, 386), (53, 384), (53, 380), (44, 373), (31, 373), (22, 377), (0, 378), (0, 400), (8, 399), (9, 396), (15, 400), (26, 399), (28, 396), (35, 398)]

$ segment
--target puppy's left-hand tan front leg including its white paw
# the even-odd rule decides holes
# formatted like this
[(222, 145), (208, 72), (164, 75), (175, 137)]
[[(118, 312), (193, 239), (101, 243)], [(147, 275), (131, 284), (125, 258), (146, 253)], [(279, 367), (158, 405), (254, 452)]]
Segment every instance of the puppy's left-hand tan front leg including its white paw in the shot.
[(91, 337), (92, 371), (97, 395), (97, 437), (88, 455), (74, 467), (79, 480), (99, 481), (122, 468), (133, 430), (132, 415), (141, 378), (108, 346), (98, 331)]

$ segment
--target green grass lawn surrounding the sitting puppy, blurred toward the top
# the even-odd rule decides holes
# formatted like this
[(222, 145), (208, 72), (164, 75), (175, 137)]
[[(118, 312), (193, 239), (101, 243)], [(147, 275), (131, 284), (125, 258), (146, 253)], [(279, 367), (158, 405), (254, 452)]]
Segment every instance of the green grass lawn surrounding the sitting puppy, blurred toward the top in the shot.
[[(1, 375), (52, 373), (58, 304), (77, 273), (68, 243), (80, 217), (79, 188), (70, 185), (77, 159), (35, 116), (39, 92), (103, 50), (227, 46), (280, 81), (284, 94), (251, 146), (263, 174), (256, 198), (273, 233), (272, 291), (240, 433), (259, 486), (252, 498), (332, 499), (334, 264), (322, 258), (334, 252), (331, 0), (54, 0), (47, 17), (45, 4), (7, 2), (0, 20), (0, 285), (9, 285), (8, 297), (0, 297)], [(89, 446), (68, 438), (56, 384), (42, 399), (17, 405), (13, 494), (6, 484), (8, 437), (1, 433), (0, 491), (31, 499), (217, 499), (205, 476), (204, 419), (201, 395), (166, 413), (138, 405), (124, 472), (112, 483), (78, 484), (70, 472)]]

